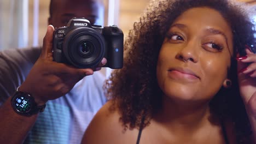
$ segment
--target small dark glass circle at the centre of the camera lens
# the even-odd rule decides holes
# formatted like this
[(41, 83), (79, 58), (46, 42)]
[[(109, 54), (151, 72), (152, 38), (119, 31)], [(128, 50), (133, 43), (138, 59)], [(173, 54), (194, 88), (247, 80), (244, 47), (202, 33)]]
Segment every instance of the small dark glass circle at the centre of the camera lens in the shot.
[(94, 53), (95, 46), (88, 40), (83, 40), (78, 45), (78, 53), (82, 57), (90, 57)]

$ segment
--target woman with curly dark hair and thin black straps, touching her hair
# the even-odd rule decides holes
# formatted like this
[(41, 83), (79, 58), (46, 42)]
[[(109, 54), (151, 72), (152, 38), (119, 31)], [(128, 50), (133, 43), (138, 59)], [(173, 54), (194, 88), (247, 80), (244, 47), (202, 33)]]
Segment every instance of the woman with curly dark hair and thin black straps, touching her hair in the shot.
[(225, 0), (150, 3), (83, 143), (255, 142), (254, 27), (244, 10)]

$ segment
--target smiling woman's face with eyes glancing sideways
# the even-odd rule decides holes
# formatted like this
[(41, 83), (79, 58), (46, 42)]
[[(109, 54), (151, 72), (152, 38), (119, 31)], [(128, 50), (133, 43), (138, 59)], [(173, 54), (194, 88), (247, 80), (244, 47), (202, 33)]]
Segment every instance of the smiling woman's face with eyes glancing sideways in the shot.
[(232, 47), (231, 28), (218, 11), (185, 11), (172, 23), (159, 53), (160, 88), (176, 100), (210, 100), (227, 78)]

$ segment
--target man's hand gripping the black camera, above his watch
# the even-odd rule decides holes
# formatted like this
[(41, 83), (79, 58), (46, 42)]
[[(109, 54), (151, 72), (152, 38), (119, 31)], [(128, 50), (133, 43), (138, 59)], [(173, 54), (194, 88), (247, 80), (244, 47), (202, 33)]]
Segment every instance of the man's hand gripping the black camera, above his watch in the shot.
[[(53, 32), (54, 27), (49, 25), (44, 37), (42, 53), (19, 88), (19, 91), (30, 93), (38, 105), (65, 95), (84, 76), (92, 75), (94, 70), (100, 70), (100, 68), (77, 69), (64, 63), (54, 62)], [(99, 67), (106, 63), (106, 58), (103, 58)]]

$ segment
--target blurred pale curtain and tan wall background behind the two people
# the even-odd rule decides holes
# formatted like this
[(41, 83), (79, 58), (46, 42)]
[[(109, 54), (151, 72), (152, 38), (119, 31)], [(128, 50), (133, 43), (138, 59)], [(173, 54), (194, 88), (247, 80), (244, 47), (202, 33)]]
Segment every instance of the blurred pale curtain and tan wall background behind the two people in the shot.
[[(236, 1), (236, 0), (234, 0)], [(256, 0), (237, 0), (252, 6)], [(104, 22), (117, 25), (124, 35), (129, 33), (149, 0), (102, 0)], [(0, 50), (42, 45), (48, 25), (50, 0), (0, 0)], [(254, 8), (254, 7), (252, 7)]]

